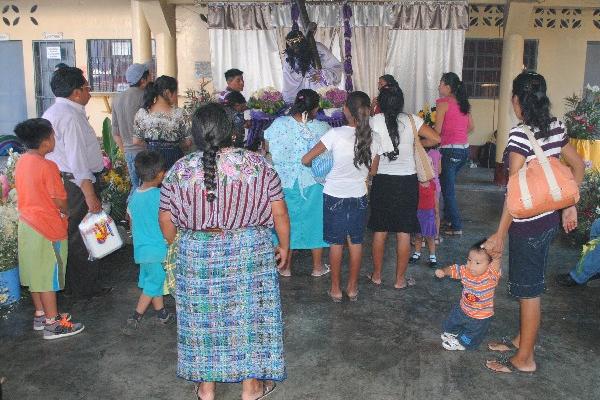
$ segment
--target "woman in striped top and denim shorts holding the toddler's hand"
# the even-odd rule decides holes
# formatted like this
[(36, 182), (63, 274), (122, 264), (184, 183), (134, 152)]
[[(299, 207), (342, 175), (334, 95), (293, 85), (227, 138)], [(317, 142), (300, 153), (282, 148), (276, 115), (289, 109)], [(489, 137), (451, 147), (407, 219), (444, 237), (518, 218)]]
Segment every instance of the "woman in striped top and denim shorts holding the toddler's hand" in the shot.
[[(563, 123), (550, 115), (550, 100), (546, 95), (544, 77), (534, 72), (523, 72), (513, 81), (512, 93), (513, 109), (522, 122), (511, 129), (504, 153), (504, 163), (508, 165), (510, 180), (518, 179), (519, 171), (524, 167), (531, 168), (530, 161), (537, 158), (534, 146), (528, 139), (528, 134), (533, 133), (544, 156), (562, 157), (579, 185), (583, 179), (583, 161), (569, 144)], [(537, 161), (542, 163), (542, 160)], [(527, 175), (529, 178), (529, 174)], [(528, 179), (527, 184), (530, 188), (535, 185), (548, 185), (544, 174), (538, 176), (539, 182), (531, 182)], [(545, 269), (550, 243), (558, 232), (561, 219), (565, 232), (568, 233), (577, 227), (577, 210), (575, 205), (571, 205), (562, 210), (541, 212), (529, 218), (517, 219), (507, 207), (507, 203), (514, 204), (514, 196), (514, 191), (508, 192), (508, 201), (504, 203), (498, 230), (483, 247), (493, 257), (502, 255), (504, 238), (508, 233), (508, 290), (519, 299), (520, 327), (514, 338), (490, 343), (488, 347), (492, 351), (514, 350), (516, 353), (505, 361), (487, 361), (486, 366), (498, 373), (533, 373), (537, 369), (534, 347), (541, 320), (540, 296), (545, 289)], [(521, 200), (526, 202), (523, 198)]]

